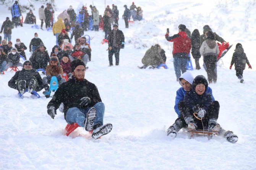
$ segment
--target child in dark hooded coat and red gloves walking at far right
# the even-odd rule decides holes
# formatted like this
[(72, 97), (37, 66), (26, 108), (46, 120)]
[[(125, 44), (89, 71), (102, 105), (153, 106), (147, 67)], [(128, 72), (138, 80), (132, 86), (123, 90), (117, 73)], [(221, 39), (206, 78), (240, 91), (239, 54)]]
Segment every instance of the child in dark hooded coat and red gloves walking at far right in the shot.
[(241, 43), (237, 43), (235, 52), (233, 53), (232, 60), (229, 69), (232, 69), (233, 64), (235, 64), (235, 71), (240, 83), (243, 83), (243, 70), (245, 69), (245, 64), (248, 64), (249, 69), (251, 69), (251, 64), (246, 57)]

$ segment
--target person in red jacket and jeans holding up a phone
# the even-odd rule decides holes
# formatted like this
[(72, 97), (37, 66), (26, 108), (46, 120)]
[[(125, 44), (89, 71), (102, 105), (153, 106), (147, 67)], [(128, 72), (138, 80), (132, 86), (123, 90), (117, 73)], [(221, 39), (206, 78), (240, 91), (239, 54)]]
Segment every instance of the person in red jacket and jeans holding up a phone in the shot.
[(170, 37), (169, 29), (167, 29), (165, 34), (166, 40), (173, 42), (173, 65), (177, 82), (181, 76), (181, 73), (183, 74), (186, 72), (187, 61), (190, 59), (188, 54), (190, 53), (191, 49), (191, 40), (188, 38), (188, 35), (185, 32), (186, 26), (180, 24), (178, 28), (178, 34), (174, 34)]

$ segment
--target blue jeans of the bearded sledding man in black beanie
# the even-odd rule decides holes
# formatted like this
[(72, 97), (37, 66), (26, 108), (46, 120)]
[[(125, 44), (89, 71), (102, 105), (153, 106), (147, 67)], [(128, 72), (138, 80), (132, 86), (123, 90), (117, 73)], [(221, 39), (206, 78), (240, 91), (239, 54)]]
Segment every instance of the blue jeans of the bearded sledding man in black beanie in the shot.
[[(94, 125), (99, 124), (103, 125), (103, 117), (105, 112), (105, 105), (102, 102), (96, 103), (93, 106), (96, 109), (96, 118), (94, 119)], [(84, 120), (86, 120), (86, 115), (89, 109), (92, 107), (88, 107), (86, 109), (71, 107), (66, 112), (66, 122), (68, 124), (77, 123), (80, 127), (84, 127)]]

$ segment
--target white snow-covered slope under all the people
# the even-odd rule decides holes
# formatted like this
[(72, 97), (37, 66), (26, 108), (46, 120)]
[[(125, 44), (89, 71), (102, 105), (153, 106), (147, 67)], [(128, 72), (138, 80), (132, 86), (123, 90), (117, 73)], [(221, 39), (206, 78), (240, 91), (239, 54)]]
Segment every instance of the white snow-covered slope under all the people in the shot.
[[(130, 24), (129, 29), (125, 29), (122, 20), (123, 1), (106, 2), (118, 6), (119, 29), (125, 34), (126, 45), (120, 52), (120, 66), (108, 67), (107, 44), (100, 43), (104, 32), (86, 32), (91, 36), (92, 61), (87, 64), (85, 77), (99, 89), (105, 104), (104, 123), (113, 124), (112, 132), (100, 140), (93, 140), (81, 127), (69, 137), (63, 135), (66, 126), (63, 114), (57, 111), (55, 119), (50, 118), (46, 108), (49, 98), (33, 99), (28, 94), (27, 98), (17, 98), (17, 91), (8, 87), (15, 73), (8, 71), (0, 75), (0, 169), (255, 170), (255, 0), (137, 0), (135, 5), (142, 7), (145, 20)], [(55, 18), (69, 5), (76, 9), (83, 4), (68, 0), (55, 3), (58, 8)], [(40, 24), (38, 8), (42, 4), (33, 4)], [(103, 14), (104, 1), (94, 1), (94, 5)], [(11, 13), (5, 6), (0, 6), (0, 10), (2, 24)], [(185, 24), (191, 32), (199, 29), (201, 34), (203, 26), (208, 24), (234, 45), (222, 59), (222, 67), (217, 68), (217, 83), (210, 87), (220, 103), (218, 122), (238, 135), (235, 144), (219, 136), (211, 140), (206, 136), (190, 139), (182, 130), (174, 140), (167, 137), (167, 128), (177, 119), (173, 106), (180, 85), (173, 69), (172, 43), (164, 35), (167, 27), (171, 35), (176, 34), (179, 24)], [(32, 29), (27, 24), (13, 29), (13, 46), (16, 38), (20, 38), (28, 47), (35, 32), (50, 53), (55, 45), (52, 32)], [(238, 81), (234, 68), (229, 69), (238, 42), (253, 67), (249, 70), (246, 66), (243, 84)], [(155, 43), (166, 51), (169, 69), (138, 69), (145, 51)], [(31, 56), (29, 50), (26, 55)], [(202, 58), (200, 65), (203, 65)], [(191, 73), (207, 76), (204, 69)], [(39, 94), (43, 96), (42, 91)]]

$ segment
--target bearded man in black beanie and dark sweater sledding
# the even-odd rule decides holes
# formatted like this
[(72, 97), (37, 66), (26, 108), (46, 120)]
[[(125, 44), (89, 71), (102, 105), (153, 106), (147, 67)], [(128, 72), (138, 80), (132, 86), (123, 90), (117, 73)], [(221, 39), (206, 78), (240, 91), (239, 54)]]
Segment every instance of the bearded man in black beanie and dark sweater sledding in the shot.
[(84, 79), (85, 64), (80, 59), (71, 62), (72, 79), (58, 87), (47, 105), (47, 113), (54, 119), (56, 110), (64, 104), (64, 117), (68, 124), (78, 123), (86, 131), (92, 131), (92, 138), (98, 139), (112, 130), (112, 124), (103, 125), (105, 105), (93, 83)]

